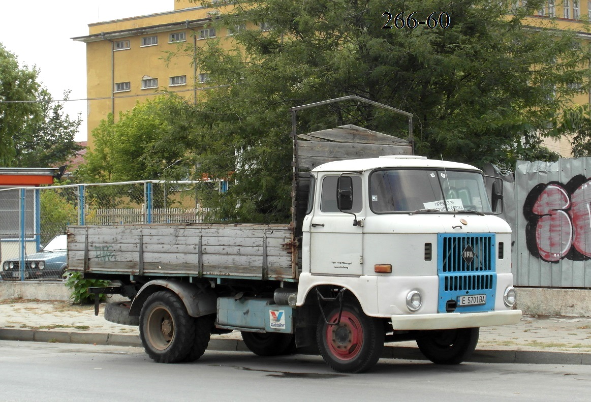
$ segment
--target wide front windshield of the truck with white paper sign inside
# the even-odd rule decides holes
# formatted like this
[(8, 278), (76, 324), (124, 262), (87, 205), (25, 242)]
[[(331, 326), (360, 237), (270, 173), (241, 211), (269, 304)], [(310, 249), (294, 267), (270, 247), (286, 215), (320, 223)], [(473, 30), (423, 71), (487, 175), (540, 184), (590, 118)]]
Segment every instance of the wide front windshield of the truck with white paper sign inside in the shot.
[(372, 211), (474, 210), (491, 213), (482, 174), (454, 170), (376, 170), (369, 176)]

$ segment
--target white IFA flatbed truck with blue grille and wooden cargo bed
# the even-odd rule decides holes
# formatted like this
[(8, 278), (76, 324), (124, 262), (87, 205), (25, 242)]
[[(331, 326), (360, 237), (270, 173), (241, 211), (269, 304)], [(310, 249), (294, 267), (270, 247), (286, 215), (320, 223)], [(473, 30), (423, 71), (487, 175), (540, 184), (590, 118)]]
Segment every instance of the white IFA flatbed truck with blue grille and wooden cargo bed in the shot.
[(257, 355), (313, 348), (353, 373), (385, 342), (459, 364), (480, 327), (519, 321), (498, 183), (488, 193), (478, 168), (353, 125), (296, 135), (296, 110), (290, 223), (68, 228), (69, 270), (129, 298), (107, 319), (139, 325), (155, 362), (240, 331)]

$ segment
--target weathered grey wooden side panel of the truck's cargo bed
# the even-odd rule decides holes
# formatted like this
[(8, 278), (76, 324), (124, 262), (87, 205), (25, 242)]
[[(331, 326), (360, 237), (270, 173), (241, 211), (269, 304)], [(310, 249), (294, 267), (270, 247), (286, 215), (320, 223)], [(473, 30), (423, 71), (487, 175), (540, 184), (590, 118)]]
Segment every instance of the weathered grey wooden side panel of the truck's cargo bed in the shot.
[(72, 226), (70, 270), (294, 278), (287, 225)]

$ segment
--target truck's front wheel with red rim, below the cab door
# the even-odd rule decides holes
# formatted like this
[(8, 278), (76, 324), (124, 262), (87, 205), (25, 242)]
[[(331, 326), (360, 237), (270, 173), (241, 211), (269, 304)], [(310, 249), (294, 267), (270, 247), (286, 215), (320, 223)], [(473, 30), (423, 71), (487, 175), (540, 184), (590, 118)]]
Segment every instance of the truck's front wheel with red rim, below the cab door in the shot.
[[(326, 316), (329, 322), (339, 319), (339, 306)], [(368, 371), (378, 362), (384, 348), (384, 325), (366, 316), (357, 304), (345, 302), (339, 325), (328, 325), (320, 315), (316, 341), (327, 365), (338, 372)]]

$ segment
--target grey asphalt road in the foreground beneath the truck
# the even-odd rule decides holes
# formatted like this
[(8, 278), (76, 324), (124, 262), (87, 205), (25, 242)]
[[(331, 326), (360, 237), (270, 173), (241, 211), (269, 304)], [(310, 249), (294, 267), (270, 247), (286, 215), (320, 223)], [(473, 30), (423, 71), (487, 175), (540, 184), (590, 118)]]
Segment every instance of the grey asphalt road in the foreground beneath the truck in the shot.
[(2, 401), (588, 401), (591, 366), (381, 359), (339, 374), (319, 356), (206, 351), (156, 364), (142, 348), (0, 341)]

